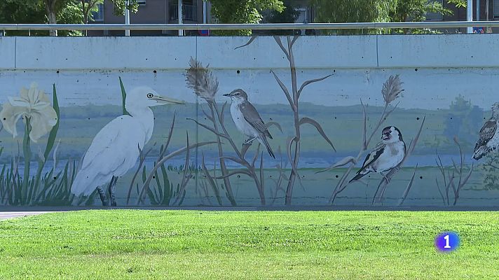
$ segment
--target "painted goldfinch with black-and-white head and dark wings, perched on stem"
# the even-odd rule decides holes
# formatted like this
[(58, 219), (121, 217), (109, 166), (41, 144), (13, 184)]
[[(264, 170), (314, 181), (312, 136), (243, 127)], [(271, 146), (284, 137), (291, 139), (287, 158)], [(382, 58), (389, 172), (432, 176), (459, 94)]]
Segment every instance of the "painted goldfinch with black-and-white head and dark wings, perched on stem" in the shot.
[(402, 132), (394, 126), (385, 127), (381, 133), (381, 142), (367, 155), (362, 168), (350, 182), (361, 179), (371, 172), (378, 172), (389, 182), (390, 179), (383, 172), (397, 167), (404, 160), (405, 153), (406, 145), (402, 139)]

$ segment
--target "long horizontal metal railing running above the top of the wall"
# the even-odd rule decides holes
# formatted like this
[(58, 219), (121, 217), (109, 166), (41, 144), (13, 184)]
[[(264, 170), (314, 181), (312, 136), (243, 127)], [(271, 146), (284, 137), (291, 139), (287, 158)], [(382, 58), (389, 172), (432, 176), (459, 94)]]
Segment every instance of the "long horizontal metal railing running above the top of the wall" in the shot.
[(0, 30), (292, 30), (292, 29), (422, 29), (499, 27), (499, 21), (463, 22), (348, 22), (348, 23), (186, 23), (186, 24), (0, 24)]

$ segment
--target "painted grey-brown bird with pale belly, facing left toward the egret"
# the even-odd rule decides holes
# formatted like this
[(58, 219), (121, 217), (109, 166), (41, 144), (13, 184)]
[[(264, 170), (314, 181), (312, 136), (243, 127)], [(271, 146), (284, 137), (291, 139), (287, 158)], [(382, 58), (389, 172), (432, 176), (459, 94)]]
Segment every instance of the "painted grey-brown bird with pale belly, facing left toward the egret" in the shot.
[(257, 139), (260, 144), (267, 148), (268, 154), (275, 158), (271, 145), (267, 141), (267, 137), (272, 139), (272, 135), (268, 132), (264, 121), (261, 120), (257, 109), (248, 101), (247, 93), (244, 90), (237, 89), (224, 94), (224, 96), (232, 99), (231, 116), (235, 127), (238, 127), (242, 134), (250, 137), (245, 141), (245, 144), (251, 144), (254, 139)]

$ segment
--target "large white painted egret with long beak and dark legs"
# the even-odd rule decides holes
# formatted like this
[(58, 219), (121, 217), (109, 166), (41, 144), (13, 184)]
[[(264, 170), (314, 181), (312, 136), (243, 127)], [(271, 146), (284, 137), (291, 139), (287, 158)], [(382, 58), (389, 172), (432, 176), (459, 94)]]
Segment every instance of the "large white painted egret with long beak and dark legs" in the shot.
[(111, 120), (95, 135), (90, 148), (83, 157), (81, 169), (71, 186), (74, 195), (88, 196), (95, 188), (99, 190), (102, 204), (107, 204), (102, 185), (109, 183), (109, 200), (114, 200), (114, 184), (135, 166), (139, 148), (151, 139), (154, 128), (153, 111), (149, 107), (165, 104), (184, 104), (169, 97), (162, 97), (150, 87), (137, 87), (127, 94), (125, 109), (130, 116), (123, 115)]

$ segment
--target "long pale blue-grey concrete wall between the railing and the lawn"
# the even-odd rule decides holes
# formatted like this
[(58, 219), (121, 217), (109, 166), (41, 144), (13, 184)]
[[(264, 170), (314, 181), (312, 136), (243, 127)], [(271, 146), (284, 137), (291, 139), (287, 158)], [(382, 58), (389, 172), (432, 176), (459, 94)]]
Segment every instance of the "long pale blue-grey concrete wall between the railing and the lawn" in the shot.
[[(498, 35), (303, 36), (292, 45), (289, 59), (273, 37), (259, 37), (237, 48), (248, 39), (1, 37), (0, 102), (4, 105), (0, 117), (4, 116), (5, 120), (2, 120), (4, 130), (0, 132), (0, 145), (4, 148), (0, 160), (5, 164), (5, 171), (0, 178), (0, 203), (101, 204), (97, 191), (90, 197), (76, 197), (71, 195), (71, 185), (86, 186), (89, 189), (86, 192), (91, 192), (97, 187), (94, 185), (101, 184), (105, 190), (112, 176), (118, 177), (115, 186), (118, 205), (127, 204), (130, 188), (129, 205), (444, 206), (456, 202), (460, 206), (497, 206), (499, 203), (499, 178), (495, 169), (499, 166), (499, 157), (491, 151), (479, 160), (472, 160), (481, 126), (493, 116), (491, 106), (499, 102), (496, 92), (499, 52), (493, 51), (499, 45)], [(280, 40), (289, 52), (287, 38)], [(217, 88), (213, 101), (203, 98), (201, 90), (193, 90), (186, 84), (191, 57), (203, 66), (209, 65), (207, 69), (191, 69), (191, 73), (197, 73), (211, 85), (217, 80), (218, 87), (210, 87)], [(296, 66), (297, 90), (306, 80), (327, 76), (304, 87), (296, 113), (273, 74), (292, 95), (289, 60)], [(134, 126), (123, 121), (124, 134), (104, 143), (100, 137), (112, 135), (114, 131), (106, 125), (114, 118), (123, 119), (118, 77), (128, 94), (127, 106), (141, 102), (143, 94), (133, 89), (142, 85), (155, 90), (155, 95), (157, 92), (182, 99), (186, 104), (153, 106), (155, 126), (149, 141), (146, 141), (148, 130), (143, 122)], [(398, 82), (403, 91), (387, 105), (383, 85), (393, 87)], [(28, 99), (22, 107), (15, 98), (22, 94), (22, 87), (29, 88), (32, 83), (46, 93), (45, 97), (36, 95), (35, 87), (31, 91), (32, 98), (45, 104), (39, 115), (33, 113), (36, 111), (33, 104), (26, 105), (34, 100)], [(60, 107), (57, 120), (50, 115), (50, 109), (57, 107), (53, 84)], [(238, 156), (250, 137), (236, 129), (228, 109), (231, 99), (223, 95), (238, 88), (247, 92), (249, 102), (262, 121), (270, 125), (268, 132), (273, 139), (267, 137), (267, 140), (275, 159), (264, 146), (259, 147), (257, 140), (251, 146), (246, 145), (249, 148), (244, 157)], [(26, 91), (25, 96), (28, 95)], [(366, 111), (367, 140), (373, 134), (367, 151), (362, 147), (361, 100)], [(222, 112), (225, 102), (228, 104)], [(385, 105), (387, 109), (383, 114)], [(210, 130), (214, 125), (212, 111), (217, 119), (216, 129), (223, 133), (216, 116), (219, 113), (228, 133), (228, 139), (221, 137), (220, 147)], [(387, 112), (390, 113), (387, 115)], [(175, 154), (163, 166), (157, 166), (157, 173), (151, 173), (162, 144), (168, 142), (174, 113), (173, 134), (164, 155), (184, 148), (187, 137), (191, 146), (205, 145), (193, 147), (187, 159), (185, 151)], [(17, 136), (13, 137), (15, 116), (28, 116), (30, 120), (41, 118), (33, 130), (43, 135), (38, 139), (25, 137), (23, 118), (18, 120)], [(132, 113), (132, 117), (125, 119), (133, 122), (138, 117)], [(293, 167), (295, 117), (305, 119), (299, 125), (299, 160)], [(495, 118), (488, 125), (493, 126), (494, 122)], [(410, 144), (415, 144), (412, 153), (399, 164), (394, 150), (399, 141), (387, 144), (394, 152), (386, 166), (398, 167), (383, 172), (389, 182), (383, 180), (382, 174), (371, 172), (348, 183), (362, 167), (369, 151), (381, 141), (383, 128), (391, 126), (401, 132), (407, 151), (412, 150)], [(392, 136), (394, 131), (392, 129)], [(141, 133), (145, 138), (137, 140)], [(125, 146), (114, 151), (119, 145)], [(137, 145), (144, 154), (144, 165), (138, 159)], [(102, 151), (97, 151), (99, 148)], [(459, 148), (463, 153), (462, 163)], [(25, 157), (25, 153), (30, 157)], [(220, 153), (223, 157), (232, 157), (224, 160), (227, 170), (220, 168)], [(29, 176), (25, 171), (28, 162)], [(39, 168), (40, 162), (43, 168)], [(189, 169), (184, 168), (186, 162), (191, 166)], [(346, 165), (320, 172), (338, 162)], [(352, 162), (356, 162), (355, 165)], [(365, 170), (376, 169), (370, 166)], [(221, 178), (224, 175), (230, 176)], [(294, 179), (289, 180), (290, 177)], [(148, 178), (149, 185), (146, 184)], [(138, 202), (142, 189), (144, 200)], [(104, 198), (104, 203), (109, 203)]]

